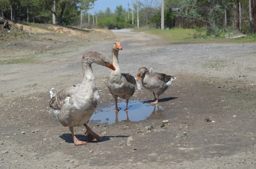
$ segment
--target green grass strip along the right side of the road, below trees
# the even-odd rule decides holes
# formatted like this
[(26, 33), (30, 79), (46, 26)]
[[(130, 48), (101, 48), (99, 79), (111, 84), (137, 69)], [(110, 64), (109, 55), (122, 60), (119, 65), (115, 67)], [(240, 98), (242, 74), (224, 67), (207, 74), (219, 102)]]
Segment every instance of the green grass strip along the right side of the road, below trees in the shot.
[(201, 38), (194, 38), (198, 32), (195, 29), (136, 29), (134, 32), (145, 32), (147, 34), (156, 35), (161, 39), (172, 43), (256, 43), (255, 36), (247, 36), (235, 39), (226, 39), (223, 37), (209, 37), (205, 32), (201, 32)]

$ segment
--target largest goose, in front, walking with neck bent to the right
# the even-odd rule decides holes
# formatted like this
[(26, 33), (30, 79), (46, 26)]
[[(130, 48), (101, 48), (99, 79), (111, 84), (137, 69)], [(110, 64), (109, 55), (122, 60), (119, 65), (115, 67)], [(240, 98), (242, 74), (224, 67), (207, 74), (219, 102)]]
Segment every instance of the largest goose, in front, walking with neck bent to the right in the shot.
[(115, 70), (110, 62), (110, 58), (96, 51), (90, 51), (83, 55), (82, 60), (83, 80), (81, 83), (62, 89), (57, 92), (56, 89), (50, 90), (49, 106), (53, 109), (55, 117), (63, 126), (67, 126), (72, 134), (74, 144), (84, 145), (86, 141), (80, 141), (74, 135), (73, 127), (84, 125), (87, 133), (87, 141), (97, 141), (101, 137), (94, 133), (87, 126), (90, 117), (96, 109), (99, 100), (98, 89), (95, 84), (92, 63), (108, 67)]

